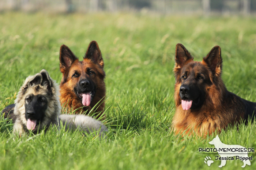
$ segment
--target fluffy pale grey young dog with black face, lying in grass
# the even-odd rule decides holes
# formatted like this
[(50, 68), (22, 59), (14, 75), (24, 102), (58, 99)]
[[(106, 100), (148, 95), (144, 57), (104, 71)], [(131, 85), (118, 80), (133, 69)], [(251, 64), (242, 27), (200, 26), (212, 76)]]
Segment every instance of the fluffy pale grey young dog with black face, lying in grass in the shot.
[[(85, 115), (60, 114), (59, 89), (46, 70), (26, 78), (15, 99), (14, 114), (17, 119), (13, 133), (19, 135), (40, 133), (50, 125), (61, 126), (66, 130), (79, 130), (91, 133), (98, 131), (105, 135), (108, 129), (98, 120)], [(103, 137), (103, 136), (102, 136)]]

